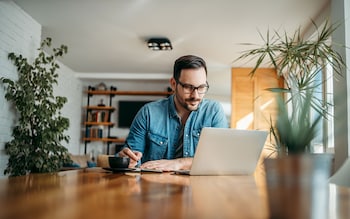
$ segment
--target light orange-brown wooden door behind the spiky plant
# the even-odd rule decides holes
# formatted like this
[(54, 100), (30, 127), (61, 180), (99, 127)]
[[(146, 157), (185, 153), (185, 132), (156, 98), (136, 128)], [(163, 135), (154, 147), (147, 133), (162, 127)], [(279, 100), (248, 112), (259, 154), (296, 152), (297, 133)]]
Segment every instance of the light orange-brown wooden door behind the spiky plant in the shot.
[(269, 130), (277, 115), (276, 96), (267, 88), (283, 87), (283, 79), (273, 68), (232, 68), (231, 127)]

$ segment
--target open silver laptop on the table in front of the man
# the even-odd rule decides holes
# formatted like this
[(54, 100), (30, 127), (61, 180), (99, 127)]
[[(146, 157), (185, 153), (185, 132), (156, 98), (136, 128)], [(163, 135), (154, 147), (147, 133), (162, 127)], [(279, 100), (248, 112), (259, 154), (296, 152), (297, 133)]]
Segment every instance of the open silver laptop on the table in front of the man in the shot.
[(203, 128), (190, 170), (185, 175), (252, 175), (268, 132)]

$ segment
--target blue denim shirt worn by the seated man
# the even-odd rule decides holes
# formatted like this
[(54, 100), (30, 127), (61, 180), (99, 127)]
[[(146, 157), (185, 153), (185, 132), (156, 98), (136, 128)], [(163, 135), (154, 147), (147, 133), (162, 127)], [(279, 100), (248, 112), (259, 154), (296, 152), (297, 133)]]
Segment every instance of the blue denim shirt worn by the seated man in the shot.
[[(174, 159), (181, 126), (174, 95), (148, 103), (135, 116), (125, 146), (142, 152), (141, 163)], [(228, 127), (220, 103), (202, 99), (198, 110), (190, 113), (184, 127), (183, 157), (194, 156), (203, 127)]]

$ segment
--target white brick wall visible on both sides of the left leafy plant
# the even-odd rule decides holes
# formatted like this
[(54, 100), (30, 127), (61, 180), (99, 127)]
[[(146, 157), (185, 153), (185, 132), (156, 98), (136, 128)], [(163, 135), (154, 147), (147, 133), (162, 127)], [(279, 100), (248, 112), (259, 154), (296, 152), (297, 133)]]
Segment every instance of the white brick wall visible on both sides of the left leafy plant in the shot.
[[(0, 77), (17, 79), (17, 70), (8, 60), (8, 53), (23, 54), (32, 61), (40, 41), (41, 25), (12, 1), (0, 1)], [(63, 116), (70, 119), (71, 125), (67, 131), (71, 136), (67, 147), (70, 152), (79, 153), (82, 87), (81, 81), (73, 74), (72, 70), (61, 64), (55, 95), (68, 98), (68, 103), (62, 110)], [(5, 177), (3, 172), (8, 161), (4, 146), (11, 140), (12, 128), (16, 121), (15, 111), (4, 95), (4, 87), (0, 85), (0, 178)]]

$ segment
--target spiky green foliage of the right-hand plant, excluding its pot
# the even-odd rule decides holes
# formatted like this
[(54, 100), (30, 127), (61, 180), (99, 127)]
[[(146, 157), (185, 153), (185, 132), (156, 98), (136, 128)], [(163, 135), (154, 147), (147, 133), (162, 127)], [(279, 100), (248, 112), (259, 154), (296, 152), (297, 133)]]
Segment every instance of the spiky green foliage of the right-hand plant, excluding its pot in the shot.
[[(244, 51), (237, 59), (256, 60), (250, 73), (252, 76), (260, 66), (267, 64), (272, 65), (278, 76), (285, 80), (284, 88), (269, 89), (278, 94), (278, 116), (276, 124), (271, 124), (270, 132), (279, 155), (309, 151), (310, 143), (317, 135), (317, 125), (322, 118), (331, 116), (328, 113), (331, 103), (315, 95), (319, 92), (317, 88), (327, 81), (327, 78), (319, 80), (318, 75), (330, 65), (335, 75), (341, 76), (345, 67), (341, 55), (330, 44), (332, 33), (338, 26), (328, 22), (322, 28), (314, 22), (313, 25), (317, 34), (308, 40), (303, 39), (301, 28), (291, 37), (286, 32), (279, 34), (274, 31), (270, 35), (267, 31), (264, 38), (260, 33), (264, 44)], [(313, 119), (310, 117), (311, 110), (318, 114)]]

